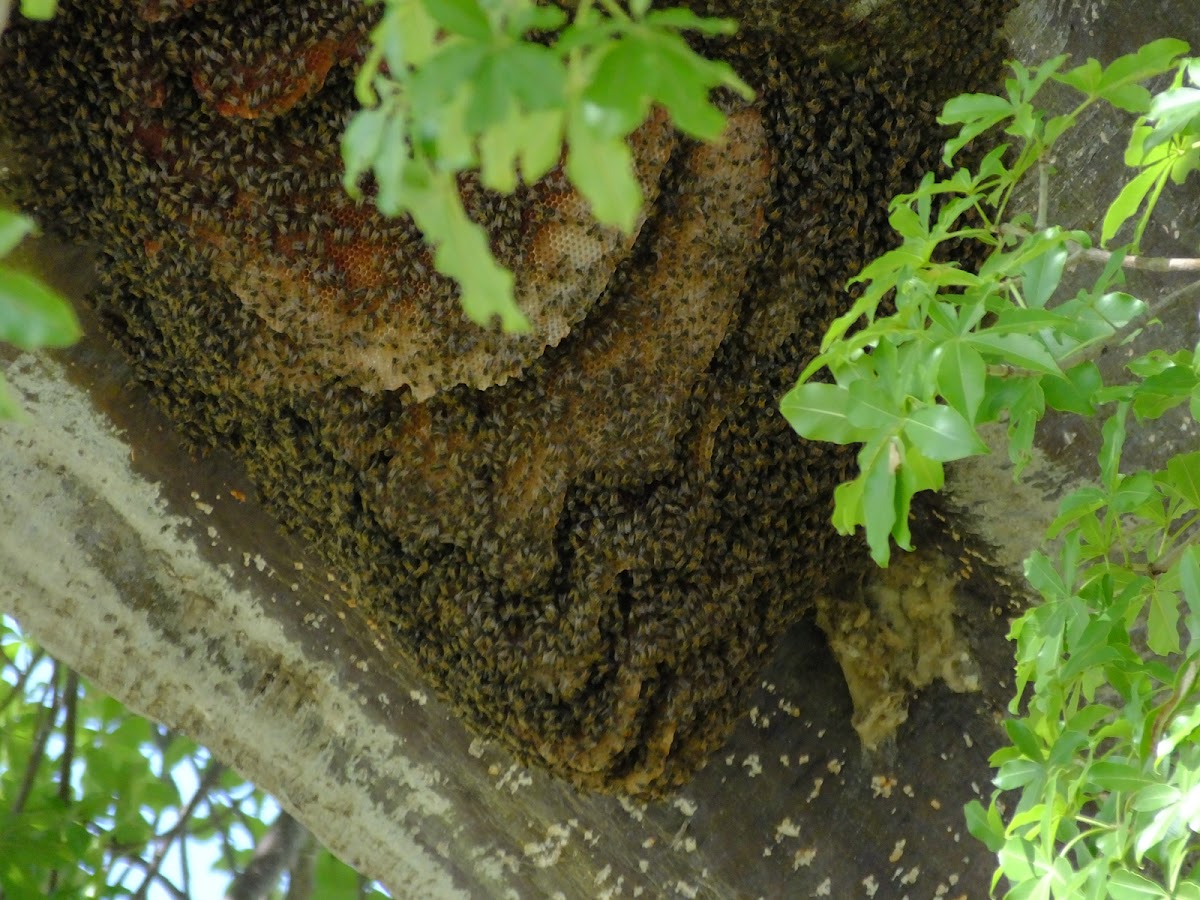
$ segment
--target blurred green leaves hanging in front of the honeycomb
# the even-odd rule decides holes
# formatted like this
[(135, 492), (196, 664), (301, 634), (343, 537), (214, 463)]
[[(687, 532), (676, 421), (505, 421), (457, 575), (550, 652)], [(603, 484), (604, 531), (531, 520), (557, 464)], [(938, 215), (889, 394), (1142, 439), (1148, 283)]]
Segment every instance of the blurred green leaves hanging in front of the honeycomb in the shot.
[(370, 174), (385, 215), (409, 215), (434, 265), (461, 287), (479, 324), (524, 330), (512, 274), (462, 205), (458, 175), (511, 193), (563, 158), (565, 173), (604, 224), (629, 232), (642, 203), (626, 137), (662, 106), (686, 134), (716, 138), (725, 116), (715, 88), (750, 89), (724, 62), (697, 55), (683, 32), (727, 34), (732, 24), (649, 0), (584, 0), (574, 14), (534, 0), (382, 2), (358, 76), (362, 109), (342, 139), (346, 187)]

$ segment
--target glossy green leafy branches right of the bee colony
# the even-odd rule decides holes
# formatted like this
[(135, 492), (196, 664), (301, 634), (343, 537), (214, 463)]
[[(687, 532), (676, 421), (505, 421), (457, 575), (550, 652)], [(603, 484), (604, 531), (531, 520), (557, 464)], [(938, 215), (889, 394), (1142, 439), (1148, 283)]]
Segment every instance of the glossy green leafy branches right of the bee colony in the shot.
[[(966, 808), (1007, 898), (1200, 898), (1200, 452), (1160, 470), (1121, 463), (1130, 419), (1186, 406), (1200, 420), (1200, 346), (1132, 359), (1115, 384), (1094, 364), (1151, 312), (1120, 289), (1123, 266), (1165, 185), (1198, 168), (1200, 62), (1187, 49), (1163, 40), (1109, 66), (1013, 64), (1004, 95), (947, 103), (941, 121), (960, 127), (948, 164), (980, 136), (995, 146), (893, 202), (899, 246), (854, 280), (853, 307), (781, 403), (800, 434), (863, 445), (834, 521), (846, 533), (865, 526), (881, 564), (892, 540), (910, 546), (911, 499), (941, 487), (942, 463), (988, 451), (980, 425), (1007, 422), (1019, 476), (1046, 409), (1103, 419), (1098, 479), (1063, 499), (1051, 550), (1026, 560), (1040, 599), (1009, 635), (1010, 744), (992, 757), (990, 803)], [(1145, 86), (1166, 74), (1162, 91)], [(1050, 79), (1082, 95), (1070, 112), (1037, 106)], [(1099, 238), (1106, 246), (1132, 222), (1132, 242), (1105, 251), (1085, 232), (1046, 226), (1042, 211), (1008, 211), (1027, 178), (1044, 198), (1056, 142), (1099, 102), (1136, 116), (1126, 150), (1134, 175)], [(973, 270), (954, 262), (965, 245), (982, 250)], [(1103, 270), (1061, 296), (1084, 256)]]

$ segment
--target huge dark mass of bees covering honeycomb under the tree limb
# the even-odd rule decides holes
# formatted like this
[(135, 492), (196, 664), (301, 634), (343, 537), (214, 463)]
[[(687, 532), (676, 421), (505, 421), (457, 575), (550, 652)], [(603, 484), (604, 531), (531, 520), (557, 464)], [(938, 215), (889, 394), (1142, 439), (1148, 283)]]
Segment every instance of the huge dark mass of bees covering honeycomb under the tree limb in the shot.
[[(341, 187), (371, 8), (78, 0), (4, 35), (11, 191), (100, 248), (94, 304), (198, 446), (361, 588), (479, 732), (590, 788), (683, 784), (780, 632), (858, 551), (852, 457), (778, 397), (936, 164), (936, 110), (998, 71), (1006, 0), (715, 4), (758, 91), (721, 146), (632, 138), (637, 234), (553, 172), (462, 184), (534, 330), (472, 325), (412, 224)], [(884, 5), (887, 6), (887, 5)]]

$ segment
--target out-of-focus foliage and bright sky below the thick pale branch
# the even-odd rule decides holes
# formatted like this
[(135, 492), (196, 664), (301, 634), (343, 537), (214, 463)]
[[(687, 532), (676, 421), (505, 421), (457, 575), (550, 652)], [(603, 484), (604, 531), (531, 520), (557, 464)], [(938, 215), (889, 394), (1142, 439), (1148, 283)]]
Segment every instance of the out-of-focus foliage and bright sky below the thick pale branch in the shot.
[[(0, 896), (205, 895), (242, 872), (277, 805), (186, 737), (128, 712), (0, 618)], [(168, 853), (184, 857), (168, 877)], [(312, 895), (367, 896), (322, 848)], [(203, 878), (203, 881), (202, 881)], [(292, 894), (289, 894), (292, 896)], [(295, 896), (302, 896), (295, 894)]]

